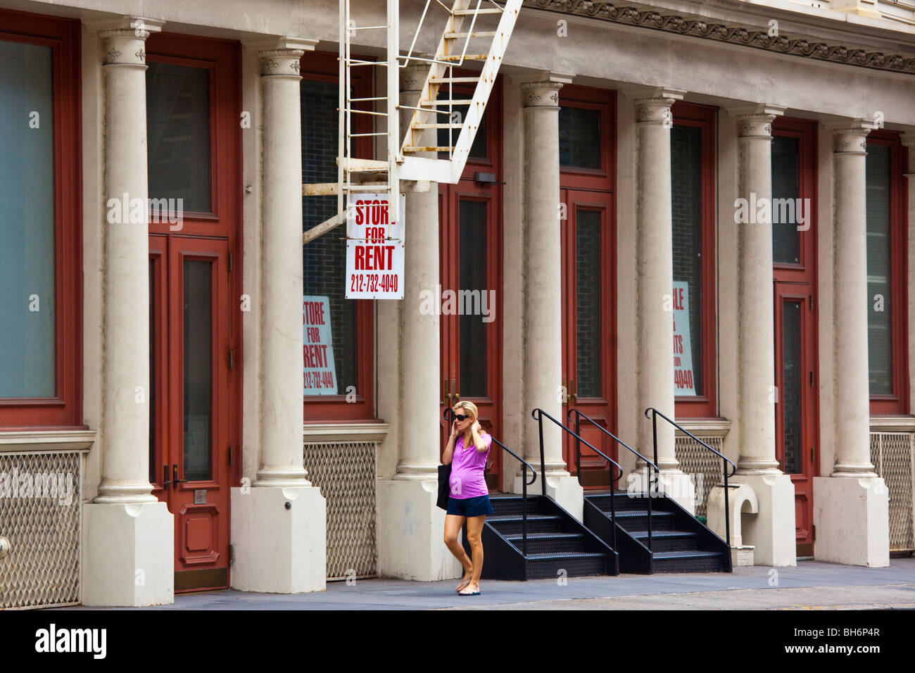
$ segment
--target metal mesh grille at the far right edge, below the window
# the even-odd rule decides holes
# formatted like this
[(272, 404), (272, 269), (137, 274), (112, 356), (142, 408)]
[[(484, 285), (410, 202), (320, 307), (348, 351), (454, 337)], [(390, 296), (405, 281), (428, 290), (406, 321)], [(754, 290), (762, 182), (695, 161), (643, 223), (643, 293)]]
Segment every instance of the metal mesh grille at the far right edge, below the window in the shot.
[(912, 525), (913, 455), (910, 432), (871, 432), (870, 461), (889, 491), (889, 550), (915, 550)]

